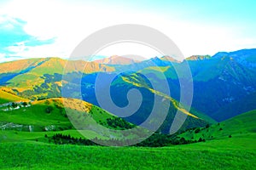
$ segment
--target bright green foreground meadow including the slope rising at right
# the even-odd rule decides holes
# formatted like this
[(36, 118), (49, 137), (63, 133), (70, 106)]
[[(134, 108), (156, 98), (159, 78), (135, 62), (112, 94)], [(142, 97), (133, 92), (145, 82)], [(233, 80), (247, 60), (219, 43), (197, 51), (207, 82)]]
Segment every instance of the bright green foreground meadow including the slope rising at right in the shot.
[[(248, 119), (253, 123), (254, 117), (255, 111), (251, 111), (201, 129), (199, 133), (193, 130), (193, 134), (188, 130), (179, 134), (180, 137), (187, 138), (192, 134), (202, 136), (207, 133), (207, 129), (211, 129), (215, 138), (207, 139), (206, 142), (159, 148), (58, 145), (49, 144), (48, 139), (45, 138), (45, 134), (51, 136), (55, 133), (82, 137), (75, 130), (0, 131), (2, 136), (0, 167), (3, 169), (255, 169), (256, 133), (253, 124), (245, 126), (242, 123), (243, 121), (250, 123)], [(229, 123), (233, 126), (230, 127)], [(222, 126), (223, 130), (217, 131), (219, 126)], [(230, 134), (227, 133), (228, 131), (232, 133), (231, 137), (228, 136)], [(91, 138), (94, 138), (92, 132), (86, 133), (90, 133)]]

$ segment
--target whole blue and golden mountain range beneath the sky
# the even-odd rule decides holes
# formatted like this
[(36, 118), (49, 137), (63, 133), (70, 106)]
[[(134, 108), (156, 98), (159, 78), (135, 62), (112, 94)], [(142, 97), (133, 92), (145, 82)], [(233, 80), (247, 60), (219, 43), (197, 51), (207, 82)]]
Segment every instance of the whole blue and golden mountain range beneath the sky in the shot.
[[(192, 80), (183, 71), (184, 65), (189, 65)], [(125, 72), (119, 74), (120, 71)], [(176, 71), (180, 72), (179, 77)], [(150, 83), (153, 81), (162, 84), (161, 74), (164, 74), (168, 82), (171, 96), (164, 94), (164, 88), (154, 91)], [(256, 109), (255, 75), (256, 49), (220, 52), (213, 56), (194, 55), (183, 61), (170, 56), (143, 61), (113, 56), (91, 62), (42, 58), (0, 64), (1, 92), (14, 95), (19, 100), (60, 98), (63, 97), (61, 90), (64, 87), (68, 90), (68, 95), (64, 97), (83, 99), (92, 105), (100, 106), (95, 93), (97, 77), (103, 77), (102, 80), (114, 77), (110, 92), (115, 105), (128, 105), (126, 95), (132, 88), (142, 93), (143, 101), (139, 110), (133, 116), (125, 117), (128, 122), (140, 124), (150, 115), (155, 96), (167, 99), (166, 105), (170, 105), (170, 108), (165, 122), (160, 127), (163, 133), (169, 132), (176, 111), (188, 116), (182, 127), (187, 129), (222, 122)], [(193, 82), (194, 94), (190, 111), (185, 110), (186, 103), (183, 103), (183, 106), (178, 105), (180, 79)], [(98, 87), (101, 91), (108, 85), (102, 81)], [(78, 88), (81, 89), (81, 96), (78, 94)], [(1, 98), (4, 100), (4, 97)], [(119, 115), (114, 111), (110, 112)]]

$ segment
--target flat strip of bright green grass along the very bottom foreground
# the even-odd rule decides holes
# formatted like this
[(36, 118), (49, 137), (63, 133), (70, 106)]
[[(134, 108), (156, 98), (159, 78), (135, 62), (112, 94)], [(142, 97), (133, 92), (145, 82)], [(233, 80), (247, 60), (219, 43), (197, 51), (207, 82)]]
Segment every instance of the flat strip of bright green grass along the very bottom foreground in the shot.
[(8, 169), (253, 169), (255, 150), (0, 144)]

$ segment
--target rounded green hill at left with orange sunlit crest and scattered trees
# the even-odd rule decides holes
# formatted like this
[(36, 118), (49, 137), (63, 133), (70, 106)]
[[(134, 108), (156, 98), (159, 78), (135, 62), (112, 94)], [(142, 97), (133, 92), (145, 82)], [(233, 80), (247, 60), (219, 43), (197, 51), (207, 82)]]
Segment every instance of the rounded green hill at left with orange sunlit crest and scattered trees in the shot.
[[(68, 111), (68, 115), (67, 115)], [(98, 133), (96, 125), (120, 130), (134, 127), (129, 122), (113, 116), (96, 105), (79, 99), (44, 99), (32, 104), (14, 103), (0, 108), (0, 142), (39, 141), (49, 143), (56, 133), (70, 135), (73, 138), (108, 139), (125, 138), (121, 133)], [(79, 122), (73, 127), (72, 122)], [(78, 130), (77, 130), (78, 129)], [(107, 138), (108, 137), (108, 138)]]

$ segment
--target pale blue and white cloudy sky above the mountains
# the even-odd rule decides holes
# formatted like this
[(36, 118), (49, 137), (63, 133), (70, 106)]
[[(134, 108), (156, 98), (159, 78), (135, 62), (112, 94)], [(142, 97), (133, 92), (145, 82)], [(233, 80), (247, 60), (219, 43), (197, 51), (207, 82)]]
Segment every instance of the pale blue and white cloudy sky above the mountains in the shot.
[[(67, 59), (95, 31), (119, 24), (150, 26), (170, 37), (183, 56), (256, 48), (256, 1), (1, 0), (0, 62), (35, 57)], [(120, 43), (98, 58), (161, 55)]]

